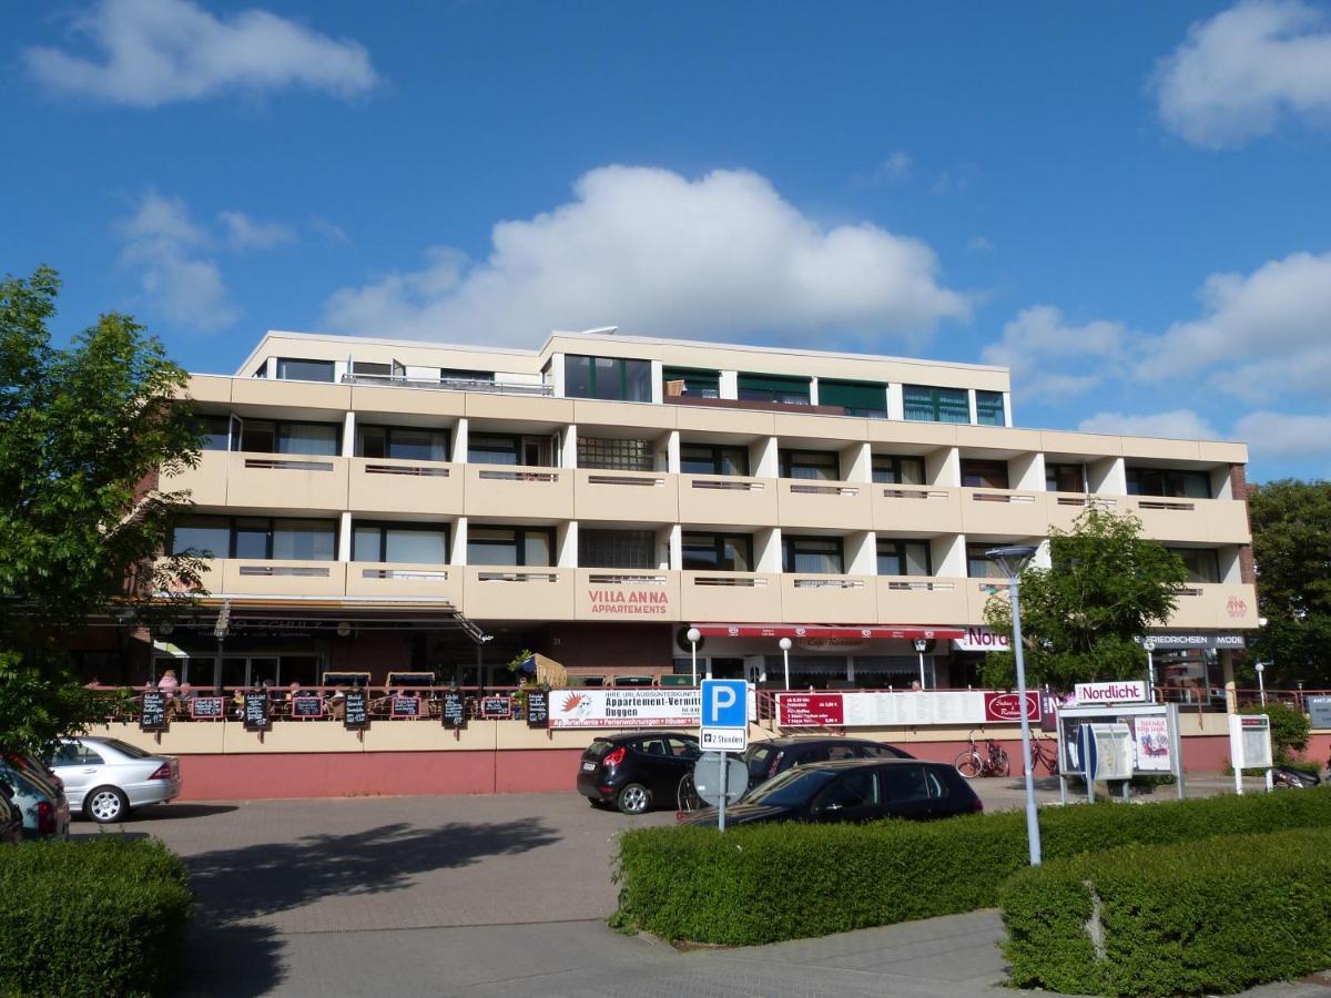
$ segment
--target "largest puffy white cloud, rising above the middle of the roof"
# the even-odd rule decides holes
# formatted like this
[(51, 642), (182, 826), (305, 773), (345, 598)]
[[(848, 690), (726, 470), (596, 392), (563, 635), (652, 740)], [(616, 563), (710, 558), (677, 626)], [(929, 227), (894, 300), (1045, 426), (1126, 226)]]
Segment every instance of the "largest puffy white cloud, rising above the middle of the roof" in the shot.
[(824, 229), (763, 177), (604, 166), (574, 200), (495, 225), (482, 262), (435, 248), (415, 271), (337, 291), (326, 323), (363, 334), (530, 345), (618, 325), (673, 337), (835, 331), (918, 343), (970, 302), (928, 245), (876, 225)]

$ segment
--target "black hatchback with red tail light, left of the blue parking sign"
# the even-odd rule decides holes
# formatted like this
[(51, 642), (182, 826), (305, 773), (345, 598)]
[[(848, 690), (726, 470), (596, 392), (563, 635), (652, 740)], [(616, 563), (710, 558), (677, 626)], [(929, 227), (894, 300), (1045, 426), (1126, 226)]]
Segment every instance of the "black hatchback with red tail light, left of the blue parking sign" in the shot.
[(697, 736), (677, 731), (602, 735), (583, 752), (578, 793), (592, 805), (614, 804), (642, 814), (652, 804), (675, 806), (680, 781), (693, 772)]

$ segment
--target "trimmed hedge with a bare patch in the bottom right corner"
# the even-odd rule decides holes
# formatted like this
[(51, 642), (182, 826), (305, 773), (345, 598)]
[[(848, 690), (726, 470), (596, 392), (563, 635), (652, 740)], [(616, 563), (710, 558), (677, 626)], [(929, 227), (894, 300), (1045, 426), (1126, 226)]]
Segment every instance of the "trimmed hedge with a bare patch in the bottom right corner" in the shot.
[(1331, 830), (1059, 860), (1009, 880), (1000, 905), (1018, 986), (1239, 991), (1331, 966)]

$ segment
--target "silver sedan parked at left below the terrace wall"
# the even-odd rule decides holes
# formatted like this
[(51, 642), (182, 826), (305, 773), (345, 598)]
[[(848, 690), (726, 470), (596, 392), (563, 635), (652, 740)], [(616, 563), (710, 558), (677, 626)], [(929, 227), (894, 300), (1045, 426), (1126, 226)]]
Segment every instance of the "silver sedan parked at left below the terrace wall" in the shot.
[(180, 761), (154, 756), (120, 739), (61, 739), (51, 768), (65, 782), (71, 810), (102, 825), (124, 821), (133, 808), (180, 796)]

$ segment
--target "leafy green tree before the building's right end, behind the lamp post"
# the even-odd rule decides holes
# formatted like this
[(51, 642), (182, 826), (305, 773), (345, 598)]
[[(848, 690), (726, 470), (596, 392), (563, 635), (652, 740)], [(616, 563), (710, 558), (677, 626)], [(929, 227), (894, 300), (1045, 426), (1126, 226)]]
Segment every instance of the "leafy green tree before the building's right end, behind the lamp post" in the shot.
[[(1070, 531), (1049, 538), (1049, 568), (1021, 574), (1021, 631), (1030, 685), (1137, 679), (1146, 675), (1146, 652), (1137, 643), (1174, 612), (1177, 589), (1187, 579), (1183, 562), (1161, 544), (1141, 539), (1142, 523), (1090, 507)], [(985, 605), (996, 633), (1012, 633), (1012, 605), (996, 593)], [(985, 683), (1014, 684), (1012, 652), (985, 659)]]

